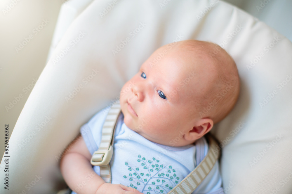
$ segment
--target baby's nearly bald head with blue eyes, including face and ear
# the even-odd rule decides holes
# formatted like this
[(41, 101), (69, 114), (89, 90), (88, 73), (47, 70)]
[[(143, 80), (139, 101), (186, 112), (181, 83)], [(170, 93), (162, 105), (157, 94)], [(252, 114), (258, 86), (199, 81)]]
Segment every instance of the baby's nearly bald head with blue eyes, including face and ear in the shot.
[(160, 47), (123, 86), (126, 126), (169, 146), (194, 143), (231, 111), (239, 96), (236, 64), (211, 42)]

